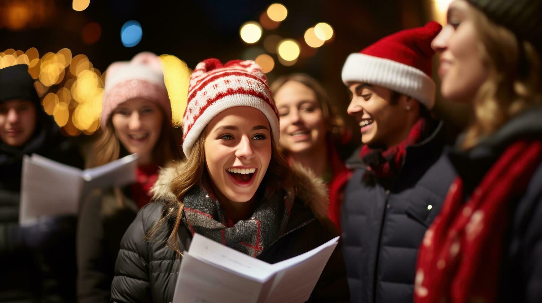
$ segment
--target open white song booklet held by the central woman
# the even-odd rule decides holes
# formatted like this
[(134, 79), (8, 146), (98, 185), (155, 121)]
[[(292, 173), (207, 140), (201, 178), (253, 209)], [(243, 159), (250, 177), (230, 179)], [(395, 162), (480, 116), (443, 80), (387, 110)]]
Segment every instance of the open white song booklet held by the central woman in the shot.
[(184, 252), (173, 303), (305, 302), (338, 240), (269, 264), (195, 234)]

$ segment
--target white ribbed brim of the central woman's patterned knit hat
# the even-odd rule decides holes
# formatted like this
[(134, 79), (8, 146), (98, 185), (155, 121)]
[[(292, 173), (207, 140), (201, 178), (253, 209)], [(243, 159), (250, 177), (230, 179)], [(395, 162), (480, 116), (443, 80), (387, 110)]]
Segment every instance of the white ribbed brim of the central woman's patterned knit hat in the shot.
[(213, 102), (205, 111), (197, 118), (192, 125), (192, 128), (186, 134), (183, 141), (183, 151), (186, 157), (190, 156), (192, 146), (202, 133), (203, 129), (212, 118), (220, 114), (222, 111), (228, 108), (236, 106), (249, 106), (262, 111), (266, 115), (273, 134), (273, 140), (275, 143), (279, 143), (279, 120), (276, 118), (275, 111), (269, 104), (262, 98), (253, 95), (246, 94), (233, 94), (220, 98)]

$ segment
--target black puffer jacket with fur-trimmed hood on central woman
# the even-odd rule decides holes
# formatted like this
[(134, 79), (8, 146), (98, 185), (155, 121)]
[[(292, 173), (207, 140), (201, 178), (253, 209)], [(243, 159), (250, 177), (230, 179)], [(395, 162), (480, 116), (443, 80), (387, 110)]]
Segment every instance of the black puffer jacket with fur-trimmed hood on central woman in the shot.
[[(306, 173), (294, 174), (297, 194), (286, 232), (258, 259), (275, 263), (307, 252), (333, 238), (331, 222), (327, 219), (325, 185)], [(176, 170), (165, 170), (155, 185), (158, 199), (171, 199), (170, 182)], [(156, 195), (155, 195), (156, 196)], [(304, 202), (305, 201), (305, 202)], [(174, 222), (168, 222), (154, 234), (153, 241), (143, 240), (164, 212), (163, 203), (151, 203), (141, 208), (120, 244), (115, 265), (111, 297), (115, 302), (171, 302), (182, 257), (163, 244)], [(324, 227), (321, 222), (324, 222)], [(154, 240), (156, 239), (156, 240)], [(188, 250), (190, 233), (181, 226), (178, 233), (180, 251)], [(328, 261), (311, 301), (347, 301), (348, 287), (343, 257), (335, 249)]]

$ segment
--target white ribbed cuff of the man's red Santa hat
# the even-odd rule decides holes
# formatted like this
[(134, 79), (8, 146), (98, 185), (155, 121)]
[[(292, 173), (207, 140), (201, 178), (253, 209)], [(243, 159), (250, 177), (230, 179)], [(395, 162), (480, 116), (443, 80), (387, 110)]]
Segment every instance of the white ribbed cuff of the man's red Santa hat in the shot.
[(355, 52), (346, 58), (343, 82), (365, 82), (410, 96), (431, 109), (435, 104), (435, 82), (420, 69), (393, 60)]

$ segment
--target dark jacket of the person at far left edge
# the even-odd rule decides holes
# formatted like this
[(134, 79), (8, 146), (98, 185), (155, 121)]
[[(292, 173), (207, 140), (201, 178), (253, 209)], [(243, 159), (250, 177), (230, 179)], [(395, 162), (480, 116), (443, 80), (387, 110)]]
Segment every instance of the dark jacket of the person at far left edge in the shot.
[(23, 147), (0, 142), (0, 302), (75, 300), (75, 216), (24, 228), (18, 224), (23, 155), (36, 153), (83, 167), (75, 145), (58, 134), (50, 117), (41, 119)]

